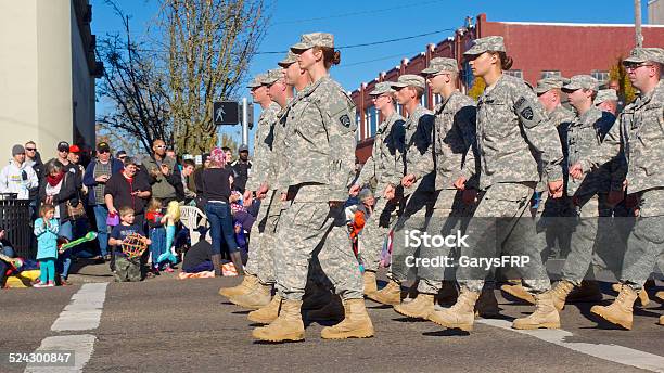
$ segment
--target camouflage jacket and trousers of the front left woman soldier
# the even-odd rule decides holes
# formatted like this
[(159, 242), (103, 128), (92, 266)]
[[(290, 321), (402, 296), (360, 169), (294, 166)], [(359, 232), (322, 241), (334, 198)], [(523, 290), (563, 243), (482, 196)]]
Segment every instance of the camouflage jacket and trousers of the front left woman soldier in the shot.
[(277, 287), (286, 300), (304, 295), (309, 263), (320, 267), (344, 299), (362, 298), (362, 278), (350, 248), (343, 205), (355, 173), (355, 105), (330, 77), (310, 85), (286, 115), (279, 185), (294, 197), (280, 218), (274, 250)]

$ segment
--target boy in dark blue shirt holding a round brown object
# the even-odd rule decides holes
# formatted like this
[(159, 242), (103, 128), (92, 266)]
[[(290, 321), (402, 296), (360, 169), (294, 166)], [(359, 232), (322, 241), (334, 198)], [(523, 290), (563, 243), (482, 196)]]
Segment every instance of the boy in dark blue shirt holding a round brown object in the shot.
[(118, 213), (120, 223), (113, 228), (111, 239), (108, 240), (108, 244), (115, 246), (115, 281), (141, 281), (140, 255), (138, 257), (128, 257), (123, 253), (122, 245), (128, 236), (133, 234), (140, 235), (141, 241), (145, 245), (150, 245), (152, 242), (145, 237), (143, 229), (135, 224), (136, 215), (131, 207), (120, 207)]

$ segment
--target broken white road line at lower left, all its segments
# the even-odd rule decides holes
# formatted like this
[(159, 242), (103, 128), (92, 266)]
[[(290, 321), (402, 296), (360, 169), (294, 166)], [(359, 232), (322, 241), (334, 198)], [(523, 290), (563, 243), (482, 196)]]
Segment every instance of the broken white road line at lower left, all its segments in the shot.
[[(72, 303), (65, 306), (60, 317), (51, 325), (51, 331), (91, 331), (99, 327), (102, 308), (106, 299), (108, 283), (84, 284), (72, 296)], [(82, 372), (94, 351), (97, 337), (91, 334), (51, 336), (41, 340), (37, 351), (73, 350), (74, 366), (31, 366), (25, 372)]]

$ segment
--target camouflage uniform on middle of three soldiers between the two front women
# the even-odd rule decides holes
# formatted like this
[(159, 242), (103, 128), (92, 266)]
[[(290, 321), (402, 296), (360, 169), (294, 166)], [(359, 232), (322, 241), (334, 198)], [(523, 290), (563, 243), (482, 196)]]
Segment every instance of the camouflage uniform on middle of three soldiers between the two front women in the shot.
[[(424, 88), (424, 78), (417, 75), (401, 75), (397, 82), (393, 82), (393, 87), (403, 88), (408, 86)], [(433, 159), (432, 136), (434, 125), (435, 118), (433, 113), (421, 105), (418, 105), (406, 119), (406, 124), (404, 125), (406, 129), (406, 151), (404, 152), (406, 175), (411, 172), (413, 165), (426, 162), (426, 159)], [(396, 282), (405, 281), (410, 272), (414, 271), (414, 268), (409, 268), (407, 266), (406, 259), (412, 256), (419, 257), (420, 248), (412, 246), (406, 247), (404, 240), (400, 237), (406, 231), (425, 231), (427, 221), (431, 219), (436, 203), (435, 178), (435, 168), (432, 168), (429, 173), (417, 180), (411, 188), (404, 190), (404, 194), (410, 193), (410, 195), (407, 197), (404, 214), (398, 218), (393, 229), (395, 239), (392, 244), (390, 276)], [(394, 175), (388, 182), (393, 185), (399, 185), (401, 179), (403, 176)], [(434, 281), (431, 281), (431, 286), (424, 284), (424, 282), (421, 283), (422, 285), (418, 286), (427, 287), (429, 290), (426, 290), (426, 293), (437, 292), (430, 288), (436, 286)], [(437, 286), (439, 287), (440, 285), (438, 284)]]

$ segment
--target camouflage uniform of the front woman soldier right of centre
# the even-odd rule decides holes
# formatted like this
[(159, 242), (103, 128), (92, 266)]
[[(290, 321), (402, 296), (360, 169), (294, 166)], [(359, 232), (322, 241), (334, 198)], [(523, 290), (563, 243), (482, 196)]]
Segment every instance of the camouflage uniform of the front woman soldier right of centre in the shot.
[[(467, 53), (477, 52), (472, 48)], [(539, 248), (523, 245), (528, 236), (535, 234), (534, 222), (521, 218), (540, 180), (539, 159), (548, 181), (562, 179), (562, 150), (556, 128), (524, 81), (503, 74), (478, 100), (476, 129), (481, 168), (478, 183), (486, 194), (468, 227), (470, 247), (462, 248), (461, 254), (493, 257), (496, 247), (501, 249), (507, 244), (506, 248), (513, 254), (531, 257), (531, 263), (522, 273), (524, 284), (536, 293), (545, 292), (550, 288), (550, 281)], [(464, 166), (467, 180), (475, 173), (474, 166), (473, 152), (469, 150)], [(486, 270), (461, 267), (457, 275), (462, 286), (480, 292)]]

